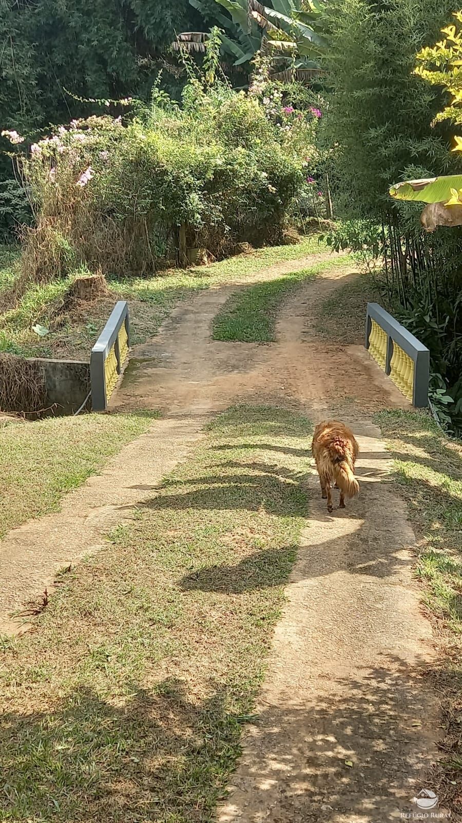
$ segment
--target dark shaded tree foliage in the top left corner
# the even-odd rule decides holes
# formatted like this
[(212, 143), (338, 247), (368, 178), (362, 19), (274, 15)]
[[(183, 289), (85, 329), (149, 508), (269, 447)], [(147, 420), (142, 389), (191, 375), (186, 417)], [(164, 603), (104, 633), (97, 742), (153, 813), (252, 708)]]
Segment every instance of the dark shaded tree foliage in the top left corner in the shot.
[(0, 125), (27, 130), (81, 114), (81, 97), (146, 95), (188, 0), (0, 0)]

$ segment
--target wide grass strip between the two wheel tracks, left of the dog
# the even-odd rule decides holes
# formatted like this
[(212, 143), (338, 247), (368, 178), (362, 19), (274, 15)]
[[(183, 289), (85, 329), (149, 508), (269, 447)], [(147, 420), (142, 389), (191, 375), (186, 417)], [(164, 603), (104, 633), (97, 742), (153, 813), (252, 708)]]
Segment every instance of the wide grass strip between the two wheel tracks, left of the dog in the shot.
[(213, 819), (307, 516), (308, 435), (270, 407), (219, 416), (5, 641), (0, 820)]

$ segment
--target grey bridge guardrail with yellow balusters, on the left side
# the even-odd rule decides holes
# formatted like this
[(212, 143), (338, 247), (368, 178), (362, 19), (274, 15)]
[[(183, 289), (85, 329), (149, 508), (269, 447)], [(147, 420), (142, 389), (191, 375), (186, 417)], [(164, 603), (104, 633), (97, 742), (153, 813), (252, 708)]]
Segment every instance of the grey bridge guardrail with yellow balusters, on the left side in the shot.
[(116, 387), (130, 349), (130, 322), (127, 300), (118, 300), (108, 322), (91, 350), (91, 406), (104, 412)]

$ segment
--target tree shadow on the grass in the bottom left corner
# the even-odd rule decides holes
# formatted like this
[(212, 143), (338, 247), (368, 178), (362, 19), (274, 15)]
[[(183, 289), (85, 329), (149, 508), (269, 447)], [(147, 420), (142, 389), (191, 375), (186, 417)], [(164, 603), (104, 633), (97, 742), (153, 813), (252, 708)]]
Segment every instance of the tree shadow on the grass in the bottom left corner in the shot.
[(210, 820), (224, 794), (224, 769), (238, 755), (240, 725), (229, 713), (227, 689), (212, 683), (209, 691), (195, 700), (182, 681), (133, 685), (132, 697), (118, 706), (81, 687), (50, 711), (6, 712), (5, 819)]

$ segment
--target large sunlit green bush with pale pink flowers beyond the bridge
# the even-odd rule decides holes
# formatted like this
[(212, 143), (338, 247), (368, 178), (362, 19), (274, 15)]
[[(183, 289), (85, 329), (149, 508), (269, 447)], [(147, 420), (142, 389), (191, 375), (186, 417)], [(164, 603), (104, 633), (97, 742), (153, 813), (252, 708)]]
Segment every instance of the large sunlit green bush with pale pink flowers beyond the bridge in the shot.
[(37, 216), (26, 277), (62, 277), (66, 261), (143, 274), (189, 248), (221, 257), (243, 240), (280, 241), (303, 181), (286, 142), (255, 97), (196, 79), (182, 107), (156, 91), (127, 124), (90, 117), (53, 130), (16, 155)]

